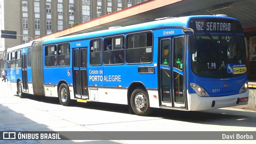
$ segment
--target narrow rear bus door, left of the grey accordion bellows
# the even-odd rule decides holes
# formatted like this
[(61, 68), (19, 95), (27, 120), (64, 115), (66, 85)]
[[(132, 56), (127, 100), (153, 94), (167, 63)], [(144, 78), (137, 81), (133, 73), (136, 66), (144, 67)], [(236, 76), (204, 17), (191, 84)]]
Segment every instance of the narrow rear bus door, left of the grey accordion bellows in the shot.
[(27, 54), (22, 54), (21, 58), (23, 92), (28, 92)]

